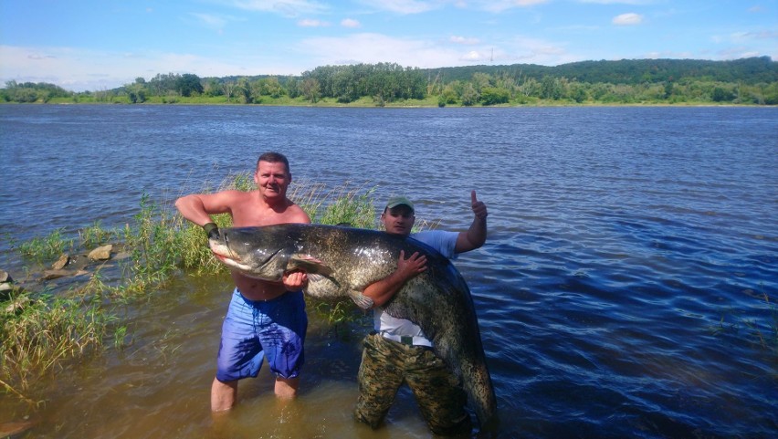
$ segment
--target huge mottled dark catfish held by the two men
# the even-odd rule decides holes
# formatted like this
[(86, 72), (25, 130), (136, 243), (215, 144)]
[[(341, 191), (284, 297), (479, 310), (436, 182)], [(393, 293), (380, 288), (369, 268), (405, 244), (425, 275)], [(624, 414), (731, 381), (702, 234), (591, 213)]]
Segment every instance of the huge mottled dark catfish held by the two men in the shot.
[(309, 274), (306, 294), (349, 297), (363, 308), (372, 302), (362, 291), (394, 272), (401, 250), (406, 256), (425, 255), (426, 271), (406, 282), (384, 310), (424, 330), (436, 354), (464, 383), (482, 427), (497, 422), (497, 399), (468, 284), (432, 247), (375, 230), (300, 224), (224, 228), (210, 246), (227, 267), (248, 277), (279, 281), (286, 271), (304, 269)]

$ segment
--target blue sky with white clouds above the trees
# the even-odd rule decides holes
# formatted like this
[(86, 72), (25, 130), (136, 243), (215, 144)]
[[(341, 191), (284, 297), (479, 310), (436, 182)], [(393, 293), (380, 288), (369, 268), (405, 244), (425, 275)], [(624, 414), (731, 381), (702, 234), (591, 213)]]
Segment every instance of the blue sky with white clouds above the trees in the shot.
[(762, 56), (778, 60), (778, 0), (0, 0), (0, 87)]

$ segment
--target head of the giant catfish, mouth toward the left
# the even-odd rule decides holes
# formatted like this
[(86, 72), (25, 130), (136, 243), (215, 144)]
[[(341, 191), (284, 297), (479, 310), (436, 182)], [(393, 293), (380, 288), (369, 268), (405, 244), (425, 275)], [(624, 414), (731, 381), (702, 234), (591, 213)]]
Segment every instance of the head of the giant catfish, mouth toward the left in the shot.
[(220, 229), (208, 238), (214, 255), (247, 277), (278, 282), (288, 270), (293, 251), (289, 237), (272, 227)]

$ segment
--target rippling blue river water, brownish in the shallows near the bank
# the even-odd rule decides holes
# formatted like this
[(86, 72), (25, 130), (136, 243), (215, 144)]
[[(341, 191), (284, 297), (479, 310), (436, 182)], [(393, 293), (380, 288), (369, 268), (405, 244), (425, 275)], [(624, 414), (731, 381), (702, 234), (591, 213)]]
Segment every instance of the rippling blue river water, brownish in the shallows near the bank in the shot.
[[(4, 105), (0, 150), (15, 277), (9, 238), (124, 225), (143, 193), (213, 187), (266, 151), (299, 181), (403, 193), (444, 229), (469, 225), (476, 190), (489, 239), (455, 264), (500, 437), (778, 434), (778, 109)], [(369, 329), (312, 313), (300, 398), (276, 402), (263, 371), (214, 423), (230, 291), (183, 275), (128, 311), (131, 345), (58, 372), (26, 437), (429, 437), (406, 391), (384, 429), (352, 422)]]

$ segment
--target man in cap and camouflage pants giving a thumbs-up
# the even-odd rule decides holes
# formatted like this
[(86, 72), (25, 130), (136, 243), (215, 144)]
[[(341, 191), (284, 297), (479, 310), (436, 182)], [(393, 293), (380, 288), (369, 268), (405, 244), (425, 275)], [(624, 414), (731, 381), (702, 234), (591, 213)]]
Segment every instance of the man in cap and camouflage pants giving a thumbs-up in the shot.
[[(473, 222), (466, 232), (430, 230), (411, 234), (415, 223), (414, 204), (403, 196), (392, 197), (381, 214), (386, 233), (410, 236), (441, 255), (457, 254), (483, 246), (487, 235), (486, 204), (470, 193)], [(414, 392), (429, 429), (437, 435), (465, 435), (472, 430), (465, 410), (467, 394), (462, 384), (433, 352), (421, 328), (412, 321), (395, 319), (381, 308), (411, 277), (426, 270), (426, 256), (400, 252), (394, 273), (366, 287), (363, 294), (373, 299), (374, 331), (364, 341), (360, 364), (357, 420), (377, 428), (394, 402), (403, 382)]]

